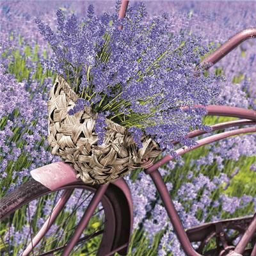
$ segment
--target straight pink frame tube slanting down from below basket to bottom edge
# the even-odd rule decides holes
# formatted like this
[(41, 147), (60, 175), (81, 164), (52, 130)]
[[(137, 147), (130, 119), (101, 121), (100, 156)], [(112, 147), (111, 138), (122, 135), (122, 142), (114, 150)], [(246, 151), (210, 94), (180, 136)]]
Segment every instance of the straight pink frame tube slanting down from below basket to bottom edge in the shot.
[(173, 228), (175, 230), (175, 234), (177, 235), (184, 252), (188, 256), (201, 256), (200, 254), (195, 252), (194, 248), (191, 246), (188, 236), (187, 236), (187, 234), (184, 230), (184, 227), (180, 221), (179, 214), (177, 213), (175, 206), (173, 205), (172, 199), (170, 198), (168, 189), (166, 188), (166, 185), (164, 184), (161, 174), (159, 173), (158, 170), (155, 170), (154, 172), (150, 173), (150, 177), (154, 181), (157, 191), (158, 191), (159, 195), (161, 196), (161, 199), (163, 200), (164, 207), (168, 213), (168, 216), (169, 216), (169, 218), (172, 222)]

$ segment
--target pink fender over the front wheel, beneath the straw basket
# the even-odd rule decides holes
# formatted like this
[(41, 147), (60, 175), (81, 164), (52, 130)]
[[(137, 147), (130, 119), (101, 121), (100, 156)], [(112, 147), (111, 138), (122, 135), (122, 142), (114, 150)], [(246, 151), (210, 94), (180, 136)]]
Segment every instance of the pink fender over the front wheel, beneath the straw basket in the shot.
[[(81, 180), (77, 179), (74, 168), (64, 162), (47, 164), (32, 170), (30, 173), (33, 179), (51, 190), (74, 182), (81, 182)], [(88, 186), (92, 185), (88, 184)], [(108, 195), (114, 205), (116, 212), (117, 228), (113, 250), (127, 244), (127, 246), (122, 246), (122, 249), (117, 250), (121, 255), (126, 255), (133, 228), (132, 195), (129, 186), (121, 177), (109, 184), (106, 195)]]

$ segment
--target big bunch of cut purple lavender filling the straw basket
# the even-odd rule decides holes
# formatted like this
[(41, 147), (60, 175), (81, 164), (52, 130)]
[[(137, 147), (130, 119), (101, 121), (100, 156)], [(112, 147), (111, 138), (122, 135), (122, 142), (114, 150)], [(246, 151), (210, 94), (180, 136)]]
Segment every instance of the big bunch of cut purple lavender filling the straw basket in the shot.
[[(172, 140), (194, 145), (186, 135), (204, 127), (206, 111), (193, 106), (209, 104), (218, 95), (215, 76), (203, 72), (194, 76), (200, 54), (207, 52), (200, 38), (191, 36), (184, 44), (185, 35), (170, 35), (166, 15), (145, 24), (142, 3), (127, 10), (122, 30), (116, 13), (95, 15), (89, 6), (87, 16), (81, 25), (76, 15), (66, 19), (58, 10), (57, 33), (36, 20), (56, 54), (55, 70), (65, 74), (75, 92), (98, 113), (111, 111), (109, 118), (129, 128), (139, 148), (143, 134), (169, 154), (174, 154)], [(189, 108), (180, 109), (184, 106)], [(99, 124), (97, 131), (104, 134)]]

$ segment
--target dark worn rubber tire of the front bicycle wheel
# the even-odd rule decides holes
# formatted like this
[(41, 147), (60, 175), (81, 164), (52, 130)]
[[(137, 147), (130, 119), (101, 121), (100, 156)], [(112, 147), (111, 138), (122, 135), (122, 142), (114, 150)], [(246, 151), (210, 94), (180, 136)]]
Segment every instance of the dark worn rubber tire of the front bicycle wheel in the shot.
[[(68, 188), (83, 188), (87, 189), (88, 191), (95, 191), (97, 189), (95, 186), (88, 186), (83, 184), (83, 182), (77, 182), (76, 184), (70, 184), (56, 189), (56, 191)], [(34, 179), (29, 179), (19, 188), (13, 190), (8, 195), (0, 199), (1, 221), (10, 216), (10, 214), (13, 214), (13, 212), (19, 210), (23, 205), (28, 204), (32, 200), (41, 198), (44, 195), (49, 195), (51, 192), (54, 191), (51, 191)], [(118, 200), (115, 199), (115, 189), (109, 189), (108, 193), (106, 193), (106, 195), (104, 195), (102, 198), (102, 206), (104, 207), (105, 218), (108, 220), (109, 224), (106, 226), (104, 225), (104, 231), (102, 232), (102, 239), (100, 241), (99, 249), (97, 250), (97, 255), (100, 256), (111, 255), (109, 253), (111, 250), (115, 250), (116, 245), (118, 244), (118, 242), (116, 242), (116, 230), (122, 230), (121, 227), (118, 227), (118, 223), (120, 223), (122, 220), (120, 220), (120, 218), (116, 218), (116, 211), (118, 211), (118, 207), (122, 207), (122, 205), (118, 206)], [(113, 204), (113, 202), (115, 202), (115, 204)], [(123, 246), (119, 253), (124, 255), (124, 252), (125, 250)]]

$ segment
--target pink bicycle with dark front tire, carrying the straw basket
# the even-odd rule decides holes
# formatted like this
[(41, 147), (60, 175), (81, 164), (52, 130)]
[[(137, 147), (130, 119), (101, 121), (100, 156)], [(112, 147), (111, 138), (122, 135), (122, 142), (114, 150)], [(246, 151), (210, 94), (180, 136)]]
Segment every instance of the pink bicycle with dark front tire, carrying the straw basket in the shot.
[[(125, 1), (123, 1), (123, 3), (125, 3)], [(122, 4), (120, 15), (124, 15), (126, 8), (127, 2), (126, 6), (125, 4)], [(205, 60), (200, 63), (200, 66), (204, 67), (205, 70), (212, 67), (212, 65), (221, 60), (221, 58), (228, 54), (228, 52), (232, 51), (232, 49), (248, 38), (256, 38), (256, 28), (245, 29), (244, 31), (234, 35), (228, 40), (228, 42), (221, 45), (221, 47), (205, 58)], [(230, 127), (241, 127), (242, 125), (254, 126), (233, 129), (231, 131), (224, 131), (207, 136), (198, 140), (194, 147), (179, 148), (176, 150), (177, 155), (182, 156), (195, 148), (202, 147), (214, 141), (223, 140), (230, 136), (256, 132), (256, 111), (229, 106), (206, 106), (206, 109), (208, 111), (208, 115), (232, 116), (239, 118), (238, 120), (230, 122), (214, 124), (211, 126), (212, 131), (219, 131)], [(207, 132), (196, 130), (190, 132), (188, 136), (190, 138), (195, 138), (196, 136), (200, 136), (205, 133)], [(176, 144), (177, 142), (172, 141), (172, 143)], [(172, 198), (170, 198), (168, 189), (166, 188), (161, 174), (158, 171), (160, 166), (172, 159), (172, 156), (163, 157), (163, 159), (147, 168), (145, 173), (150, 175), (157, 188), (184, 252), (189, 256), (255, 256), (256, 213), (253, 216), (204, 223), (200, 226), (184, 230), (179, 215), (175, 210)], [(29, 179), (28, 182), (22, 184), (19, 188), (1, 198), (0, 201), (0, 218), (4, 221), (19, 221), (19, 218), (24, 218), (22, 214), (19, 215), (19, 211), (24, 211), (24, 209), (26, 209), (26, 212), (28, 213), (29, 230), (28, 236), (26, 237), (26, 244), (22, 249), (21, 255), (29, 255), (31, 252), (32, 255), (35, 255), (35, 253), (39, 253), (38, 255), (53, 255), (54, 253), (63, 250), (61, 255), (67, 256), (70, 255), (70, 253), (74, 253), (72, 250), (81, 243), (88, 241), (89, 246), (92, 246), (93, 244), (90, 242), (92, 239), (97, 239), (100, 243), (99, 248), (95, 248), (95, 252), (93, 252), (97, 255), (110, 256), (115, 253), (119, 253), (120, 255), (125, 255), (127, 253), (132, 234), (133, 216), (132, 197), (129, 187), (124, 179), (120, 178), (115, 182), (99, 186), (87, 185), (76, 178), (72, 167), (61, 162), (52, 163), (32, 170), (31, 177), (32, 178)], [(77, 189), (81, 190), (80, 195), (77, 195)], [(62, 190), (63, 192), (59, 195)], [(83, 198), (84, 191), (86, 192), (86, 195), (84, 196), (85, 199)], [(68, 200), (70, 200), (74, 195), (78, 200), (76, 204), (72, 205), (72, 212), (69, 214), (63, 209), (66, 205), (68, 206)], [(42, 223), (42, 227), (38, 227), (36, 235), (32, 236), (32, 232), (35, 232), (35, 230), (33, 230), (31, 224), (34, 220), (37, 221), (38, 218), (40, 218), (40, 207), (42, 209), (42, 206), (47, 205), (49, 196), (54, 198), (54, 204), (51, 205), (51, 211), (49, 211), (48, 214), (49, 217), (44, 221), (44, 223)], [(83, 201), (79, 203), (81, 198)], [(90, 202), (84, 203), (88, 199), (90, 199)], [(35, 211), (34, 209), (34, 214), (32, 214), (29, 203), (34, 200), (38, 200), (36, 201), (36, 204), (39, 210), (37, 209)], [(70, 229), (65, 232), (65, 228), (68, 228), (69, 220), (74, 216), (72, 214), (74, 214), (81, 205), (87, 206), (81, 220), (75, 227), (70, 227)], [(104, 212), (104, 218), (101, 216), (102, 212)], [(31, 220), (31, 216), (33, 215), (36, 215), (37, 219)], [(95, 218), (96, 215), (99, 216)], [(65, 220), (63, 220), (64, 218)], [(97, 223), (97, 225), (95, 225), (93, 220), (99, 219), (102, 223)], [(54, 248), (51, 248), (47, 252), (41, 252), (42, 248), (37, 248), (36, 246), (40, 241), (45, 241), (45, 239), (47, 239), (45, 238), (47, 237), (47, 232), (50, 230), (54, 222), (60, 223), (60, 221), (64, 226), (64, 230), (61, 230), (60, 227), (56, 229), (56, 233), (60, 232), (60, 237), (57, 237), (58, 240), (53, 239), (51, 241), (51, 237), (49, 239)], [(81, 237), (89, 224), (92, 226), (88, 228), (90, 234), (84, 234), (84, 236)], [(5, 243), (1, 236), (1, 241), (4, 244), (4, 253), (7, 252), (8, 255), (10, 255), (11, 248), (10, 229), (11, 226), (9, 222), (9, 230), (7, 232), (9, 234), (9, 238), (6, 239), (8, 243)], [(74, 230), (74, 233), (70, 237), (67, 236), (68, 232), (72, 230)], [(225, 230), (236, 230), (236, 236), (228, 237)], [(241, 236), (241, 238), (239, 242), (234, 245), (233, 242), (238, 236)], [(205, 247), (212, 237), (216, 238), (216, 247), (205, 251)], [(63, 241), (61, 241), (61, 238), (63, 238)], [(62, 245), (59, 245), (60, 242)], [(197, 250), (195, 250), (191, 245), (193, 242), (199, 243)], [(45, 244), (45, 247), (48, 245), (49, 244)]]

